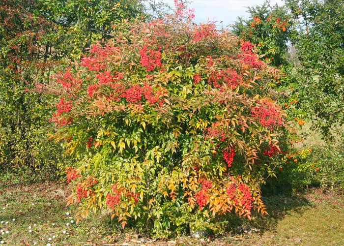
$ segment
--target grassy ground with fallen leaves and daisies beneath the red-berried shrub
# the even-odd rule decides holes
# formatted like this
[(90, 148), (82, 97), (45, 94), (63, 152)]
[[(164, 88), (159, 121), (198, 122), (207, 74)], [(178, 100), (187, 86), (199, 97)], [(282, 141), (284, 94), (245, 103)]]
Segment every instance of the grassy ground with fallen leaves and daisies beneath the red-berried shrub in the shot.
[(65, 184), (0, 182), (0, 186), (0, 241), (8, 246), (344, 245), (344, 196), (321, 188), (264, 197), (268, 217), (255, 217), (250, 223), (242, 221), (242, 226), (233, 226), (227, 235), (155, 241), (121, 232), (106, 215), (76, 225), (75, 208), (66, 207), (69, 191)]

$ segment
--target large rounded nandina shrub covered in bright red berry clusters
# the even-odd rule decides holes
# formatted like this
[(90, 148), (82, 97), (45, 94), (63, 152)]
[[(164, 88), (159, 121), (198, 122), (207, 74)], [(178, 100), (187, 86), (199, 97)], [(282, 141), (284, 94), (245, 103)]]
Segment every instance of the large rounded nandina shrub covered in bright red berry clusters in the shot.
[(38, 86), (57, 94), (53, 137), (77, 219), (107, 211), (156, 237), (266, 214), (260, 184), (287, 151), (288, 123), (266, 86), (278, 70), (250, 42), (173, 15), (131, 25)]

